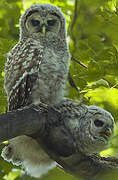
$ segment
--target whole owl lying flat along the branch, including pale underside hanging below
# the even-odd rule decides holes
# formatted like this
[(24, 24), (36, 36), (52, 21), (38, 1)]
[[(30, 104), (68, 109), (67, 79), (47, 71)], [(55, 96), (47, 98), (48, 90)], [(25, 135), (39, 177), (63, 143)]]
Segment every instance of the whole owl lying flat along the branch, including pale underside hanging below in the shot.
[[(70, 99), (63, 99), (48, 108), (50, 115), (47, 114), (46, 117), (49, 118), (43, 121), (43, 136), (40, 137), (37, 132), (33, 135), (36, 140), (25, 135), (12, 139), (12, 143), (2, 151), (5, 159), (16, 165), (22, 164), (28, 173), (39, 177), (56, 165), (52, 160), (49, 161), (48, 155), (41, 149), (42, 142), (59, 157), (81, 153), (85, 156), (93, 155), (109, 146), (114, 128), (114, 119), (109, 112), (97, 106), (81, 105)], [(56, 111), (60, 115), (54, 118)], [(49, 165), (49, 162), (50, 166), (47, 166), (46, 163)]]

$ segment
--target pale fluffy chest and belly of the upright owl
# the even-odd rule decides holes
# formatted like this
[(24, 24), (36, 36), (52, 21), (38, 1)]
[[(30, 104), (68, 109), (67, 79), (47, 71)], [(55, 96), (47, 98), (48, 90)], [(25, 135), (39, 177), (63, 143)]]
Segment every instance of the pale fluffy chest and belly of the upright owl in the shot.
[(65, 69), (62, 59), (53, 51), (46, 49), (41, 58), (32, 97), (35, 104), (41, 102), (54, 104), (63, 96)]

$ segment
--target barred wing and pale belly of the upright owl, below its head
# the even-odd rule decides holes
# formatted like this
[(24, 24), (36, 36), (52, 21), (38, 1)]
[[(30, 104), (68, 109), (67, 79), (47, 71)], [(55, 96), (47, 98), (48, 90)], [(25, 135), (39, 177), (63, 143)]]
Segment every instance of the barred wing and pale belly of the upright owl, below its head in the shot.
[(40, 101), (59, 102), (64, 95), (69, 65), (68, 54), (60, 61), (63, 55), (57, 57), (48, 48), (44, 51), (40, 42), (31, 39), (19, 42), (12, 49), (5, 64), (4, 83), (9, 110)]

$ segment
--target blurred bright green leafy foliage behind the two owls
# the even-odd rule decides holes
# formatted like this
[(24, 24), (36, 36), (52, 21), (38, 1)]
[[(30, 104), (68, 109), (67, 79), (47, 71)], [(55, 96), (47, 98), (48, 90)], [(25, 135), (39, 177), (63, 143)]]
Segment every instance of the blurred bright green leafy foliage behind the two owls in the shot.
[[(18, 41), (20, 15), (35, 3), (36, 0), (0, 1), (0, 113), (7, 107), (3, 88), (6, 53)], [(118, 0), (39, 0), (38, 3), (57, 5), (65, 14), (71, 55), (88, 67), (71, 61), (70, 74), (78, 91), (68, 83), (68, 97), (96, 104), (112, 113), (116, 121), (115, 137), (111, 148), (102, 154), (118, 156)], [(74, 180), (58, 168), (40, 179), (54, 177)], [(2, 158), (0, 179), (33, 180)]]

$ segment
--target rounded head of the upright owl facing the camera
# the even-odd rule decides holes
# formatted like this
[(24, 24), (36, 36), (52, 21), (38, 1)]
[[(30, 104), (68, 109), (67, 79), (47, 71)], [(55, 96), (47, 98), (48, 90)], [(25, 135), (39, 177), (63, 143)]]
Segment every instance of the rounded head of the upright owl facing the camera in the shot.
[(30, 6), (20, 19), (20, 39), (54, 38), (65, 39), (66, 21), (59, 8), (50, 4)]

